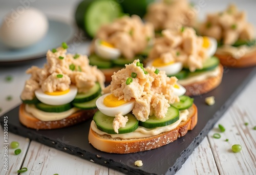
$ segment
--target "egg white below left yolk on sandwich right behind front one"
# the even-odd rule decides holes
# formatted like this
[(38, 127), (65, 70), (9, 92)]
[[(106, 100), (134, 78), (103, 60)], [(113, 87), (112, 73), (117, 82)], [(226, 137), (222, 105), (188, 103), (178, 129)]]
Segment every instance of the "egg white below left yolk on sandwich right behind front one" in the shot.
[(183, 64), (182, 62), (175, 62), (173, 64), (169, 64), (169, 65), (164, 65), (161, 67), (156, 67), (152, 65), (153, 61), (150, 61), (146, 64), (147, 67), (154, 67), (156, 69), (158, 69), (159, 71), (165, 71), (166, 75), (174, 75), (179, 73), (182, 68), (183, 68)]

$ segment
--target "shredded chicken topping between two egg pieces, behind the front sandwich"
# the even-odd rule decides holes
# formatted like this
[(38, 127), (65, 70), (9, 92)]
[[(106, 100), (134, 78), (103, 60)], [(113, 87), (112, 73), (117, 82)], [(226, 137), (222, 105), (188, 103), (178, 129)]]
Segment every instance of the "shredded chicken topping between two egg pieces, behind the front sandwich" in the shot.
[(166, 29), (162, 37), (156, 38), (148, 59), (162, 59), (162, 62), (182, 62), (191, 72), (203, 67), (208, 58), (207, 50), (203, 47), (203, 37), (197, 36), (190, 27)]

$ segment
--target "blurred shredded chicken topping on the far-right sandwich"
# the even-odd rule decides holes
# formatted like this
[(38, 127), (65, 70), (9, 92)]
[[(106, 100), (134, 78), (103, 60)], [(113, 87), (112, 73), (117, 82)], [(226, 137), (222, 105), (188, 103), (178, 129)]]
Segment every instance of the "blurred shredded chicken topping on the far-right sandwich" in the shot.
[(238, 39), (252, 40), (255, 38), (254, 27), (246, 21), (245, 12), (238, 11), (235, 5), (230, 5), (223, 12), (207, 15), (201, 25), (201, 35), (211, 36), (224, 45), (232, 45)]

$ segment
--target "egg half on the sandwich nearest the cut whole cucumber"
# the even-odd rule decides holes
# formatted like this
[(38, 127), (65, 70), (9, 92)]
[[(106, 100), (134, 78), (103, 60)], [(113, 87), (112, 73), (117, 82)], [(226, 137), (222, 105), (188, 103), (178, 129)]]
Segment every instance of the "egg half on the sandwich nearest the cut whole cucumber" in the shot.
[(121, 51), (116, 49), (110, 43), (96, 39), (95, 40), (95, 53), (104, 59), (117, 59), (121, 55)]

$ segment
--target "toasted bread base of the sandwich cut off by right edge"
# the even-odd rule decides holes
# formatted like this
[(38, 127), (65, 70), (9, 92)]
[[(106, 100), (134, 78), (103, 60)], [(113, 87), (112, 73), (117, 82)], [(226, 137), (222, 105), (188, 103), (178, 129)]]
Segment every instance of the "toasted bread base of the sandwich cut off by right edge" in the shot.
[(243, 57), (236, 59), (231, 55), (215, 54), (220, 59), (220, 63), (229, 68), (247, 68), (256, 65), (256, 51), (245, 54)]

